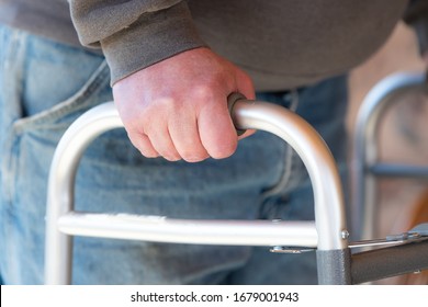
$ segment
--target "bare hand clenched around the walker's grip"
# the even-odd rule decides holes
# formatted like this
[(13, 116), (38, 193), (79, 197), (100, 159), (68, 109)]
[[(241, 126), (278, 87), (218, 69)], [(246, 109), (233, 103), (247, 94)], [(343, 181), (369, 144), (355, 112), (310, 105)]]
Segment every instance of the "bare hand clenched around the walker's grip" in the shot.
[(250, 78), (207, 48), (181, 53), (113, 86), (133, 145), (148, 158), (189, 162), (235, 152), (238, 137), (227, 110), (233, 92), (255, 98)]

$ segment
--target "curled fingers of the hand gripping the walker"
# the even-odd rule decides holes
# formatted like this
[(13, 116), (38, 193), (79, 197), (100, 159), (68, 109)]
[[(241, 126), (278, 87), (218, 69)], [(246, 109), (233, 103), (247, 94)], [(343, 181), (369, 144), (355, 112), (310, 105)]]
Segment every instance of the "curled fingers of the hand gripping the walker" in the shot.
[(206, 103), (209, 106), (199, 112), (194, 112), (195, 107), (153, 114), (142, 112), (138, 120), (125, 124), (128, 137), (147, 158), (160, 156), (169, 161), (183, 159), (188, 162), (203, 161), (209, 157), (227, 158), (235, 152), (238, 137), (226, 98)]

